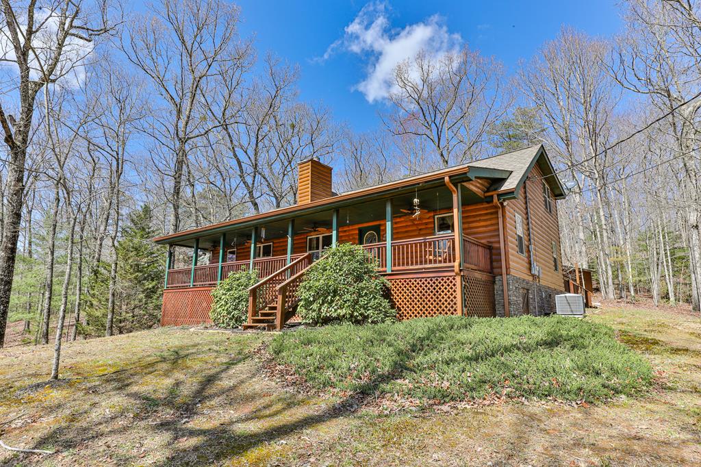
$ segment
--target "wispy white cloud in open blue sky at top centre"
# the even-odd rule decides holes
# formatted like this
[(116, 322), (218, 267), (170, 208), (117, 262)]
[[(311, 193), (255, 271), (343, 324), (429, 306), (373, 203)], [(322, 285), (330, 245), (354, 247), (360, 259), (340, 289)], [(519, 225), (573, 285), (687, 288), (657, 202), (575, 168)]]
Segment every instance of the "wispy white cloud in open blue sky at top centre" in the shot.
[(376, 102), (393, 91), (393, 72), (400, 62), (421, 51), (438, 59), (454, 53), (462, 42), (459, 34), (448, 32), (444, 20), (438, 15), (403, 29), (393, 29), (386, 4), (370, 3), (346, 26), (343, 38), (329, 46), (323, 59), (339, 50), (364, 57), (367, 76), (354, 89), (363, 93), (368, 102)]

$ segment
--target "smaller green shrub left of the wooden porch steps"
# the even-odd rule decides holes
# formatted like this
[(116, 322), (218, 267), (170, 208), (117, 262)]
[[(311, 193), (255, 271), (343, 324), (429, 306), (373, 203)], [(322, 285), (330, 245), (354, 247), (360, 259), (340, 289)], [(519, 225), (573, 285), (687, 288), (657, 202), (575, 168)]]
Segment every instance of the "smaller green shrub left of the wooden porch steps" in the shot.
[(238, 327), (248, 318), (248, 287), (258, 282), (258, 270), (229, 274), (212, 290), (210, 318), (219, 327)]

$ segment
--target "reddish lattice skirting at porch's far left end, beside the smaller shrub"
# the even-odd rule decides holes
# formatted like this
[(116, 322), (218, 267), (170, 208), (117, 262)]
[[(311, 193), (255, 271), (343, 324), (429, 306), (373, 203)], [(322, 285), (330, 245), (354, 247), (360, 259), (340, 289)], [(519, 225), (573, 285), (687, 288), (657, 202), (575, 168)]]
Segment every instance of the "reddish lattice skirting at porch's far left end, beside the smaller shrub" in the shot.
[(212, 323), (212, 287), (163, 290), (161, 326)]

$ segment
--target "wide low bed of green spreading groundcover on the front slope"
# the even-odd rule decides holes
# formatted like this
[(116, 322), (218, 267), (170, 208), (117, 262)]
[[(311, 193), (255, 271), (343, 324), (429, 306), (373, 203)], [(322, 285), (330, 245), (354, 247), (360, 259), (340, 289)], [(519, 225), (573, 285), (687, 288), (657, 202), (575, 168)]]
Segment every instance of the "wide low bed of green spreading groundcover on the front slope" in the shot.
[(608, 400), (644, 393), (650, 363), (611, 327), (567, 317), (424, 318), (275, 336), (271, 353), (317, 388), (442, 402)]

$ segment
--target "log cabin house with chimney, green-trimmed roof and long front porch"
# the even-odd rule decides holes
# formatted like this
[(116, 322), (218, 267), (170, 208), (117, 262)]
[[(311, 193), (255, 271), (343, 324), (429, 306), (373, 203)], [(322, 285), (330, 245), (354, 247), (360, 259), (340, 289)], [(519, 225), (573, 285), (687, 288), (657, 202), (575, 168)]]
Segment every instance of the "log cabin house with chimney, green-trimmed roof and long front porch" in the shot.
[(193, 250), (182, 269), (168, 254), (162, 325), (209, 322), (212, 288), (256, 268), (244, 327), (280, 329), (307, 268), (343, 242), (388, 279), (399, 319), (543, 315), (564, 292), (566, 193), (542, 145), (342, 194), (318, 160), (299, 163), (298, 177), (295, 205), (154, 239)]

